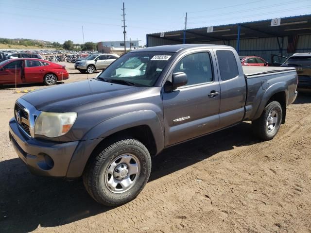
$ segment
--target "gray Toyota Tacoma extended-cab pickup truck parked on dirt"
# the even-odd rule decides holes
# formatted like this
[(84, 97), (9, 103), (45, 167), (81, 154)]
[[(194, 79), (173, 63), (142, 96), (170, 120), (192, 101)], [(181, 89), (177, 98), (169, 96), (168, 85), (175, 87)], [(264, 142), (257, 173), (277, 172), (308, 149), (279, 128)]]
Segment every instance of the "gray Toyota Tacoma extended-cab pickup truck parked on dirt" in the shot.
[(91, 197), (116, 206), (138, 195), (165, 148), (245, 120), (272, 139), (296, 86), (295, 68), (242, 68), (229, 46), (145, 48), (96, 79), (22, 96), (9, 136), (33, 173), (82, 176)]

